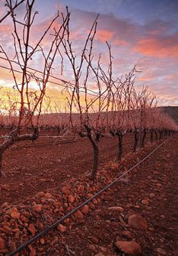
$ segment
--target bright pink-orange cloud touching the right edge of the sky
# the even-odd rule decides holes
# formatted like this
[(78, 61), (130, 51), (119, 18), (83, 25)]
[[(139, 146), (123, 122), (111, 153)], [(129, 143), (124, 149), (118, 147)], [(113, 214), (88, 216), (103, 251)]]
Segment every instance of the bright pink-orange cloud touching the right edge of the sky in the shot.
[(151, 57), (178, 57), (178, 44), (175, 38), (157, 39), (146, 38), (138, 41), (133, 51)]

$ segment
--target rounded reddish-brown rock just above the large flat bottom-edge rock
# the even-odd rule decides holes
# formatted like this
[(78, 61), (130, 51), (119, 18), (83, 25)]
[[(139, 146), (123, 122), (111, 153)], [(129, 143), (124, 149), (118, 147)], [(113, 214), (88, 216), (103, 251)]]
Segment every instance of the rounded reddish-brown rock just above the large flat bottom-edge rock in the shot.
[(140, 230), (146, 230), (148, 228), (147, 221), (139, 214), (130, 215), (128, 224), (131, 228), (137, 228)]

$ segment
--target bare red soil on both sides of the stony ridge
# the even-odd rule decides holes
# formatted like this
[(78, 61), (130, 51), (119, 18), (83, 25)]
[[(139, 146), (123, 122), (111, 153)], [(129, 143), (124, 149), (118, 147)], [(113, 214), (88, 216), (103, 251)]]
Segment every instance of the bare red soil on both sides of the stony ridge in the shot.
[[(97, 254), (98, 256), (119, 256), (124, 254), (116, 248), (115, 243), (122, 240), (136, 241), (141, 245), (142, 256), (176, 256), (178, 254), (177, 139), (178, 134), (175, 134), (148, 160), (132, 170), (117, 186), (100, 196), (100, 200), (98, 199), (94, 203), (93, 210), (85, 215), (84, 219), (72, 218), (71, 229), (62, 233), (56, 229), (49, 232), (44, 237), (44, 244), (42, 240), (40, 244), (38, 241), (33, 244), (34, 251), (29, 248), (29, 252), (26, 251), (23, 255), (36, 255), (40, 246), (42, 252), (37, 252), (39, 256), (96, 256)], [(8, 201), (12, 206), (19, 205), (18, 211), (24, 207), (21, 205), (22, 200), (30, 207), (30, 203), (36, 200), (31, 196), (37, 194), (38, 191), (47, 190), (55, 195), (55, 193), (59, 193), (62, 183), (69, 183), (69, 180), (70, 184), (72, 180), (76, 183), (79, 176), (84, 175), (85, 177), (91, 170), (92, 147), (88, 141), (40, 147), (40, 142), (44, 144), (44, 139), (40, 138), (40, 140), (36, 141), (32, 147), (30, 143), (28, 143), (29, 147), (22, 147), (24, 143), (18, 144), (17, 148), (11, 147), (5, 153), (4, 172), (6, 177), (2, 178), (0, 184), (1, 203)], [(123, 143), (126, 155), (132, 149), (132, 135), (126, 136)], [(146, 147), (145, 151), (141, 153), (141, 157), (148, 154), (156, 145)], [(102, 173), (103, 169), (106, 170), (106, 163), (116, 160), (116, 149), (116, 139), (104, 138), (101, 141), (99, 173)], [(129, 167), (131, 164), (129, 158), (122, 164), (125, 169)], [(108, 168), (111, 167), (112, 164), (108, 164)], [(113, 174), (112, 171), (109, 173), (117, 177), (117, 172), (118, 170), (115, 170)], [(107, 177), (101, 175), (94, 184), (97, 189), (100, 189), (103, 181), (108, 183), (110, 180), (112, 179), (109, 174)], [(27, 199), (27, 196), (30, 196), (31, 199)], [(145, 204), (143, 199), (146, 199), (148, 204)], [(44, 206), (46, 206), (45, 203)], [(123, 211), (112, 211), (109, 209), (111, 206), (120, 206)], [(48, 206), (46, 206), (46, 211), (48, 211)], [(140, 214), (146, 219), (147, 230), (137, 230), (128, 225), (129, 215), (133, 213)], [(1, 215), (2, 219), (3, 215)], [(46, 219), (39, 219), (37, 216), (36, 220), (33, 217), (35, 228), (37, 229), (38, 221), (48, 222), (49, 219), (47, 215)], [(21, 226), (21, 224), (18, 225)], [(129, 231), (132, 237), (126, 238), (123, 235), (124, 231)], [(54, 241), (56, 238), (57, 241), (52, 243), (52, 239)]]

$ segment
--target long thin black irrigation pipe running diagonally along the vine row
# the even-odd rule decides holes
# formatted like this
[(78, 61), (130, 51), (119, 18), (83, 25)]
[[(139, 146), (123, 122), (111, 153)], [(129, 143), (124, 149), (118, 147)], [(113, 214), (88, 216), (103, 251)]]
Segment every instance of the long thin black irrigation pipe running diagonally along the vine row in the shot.
[[(170, 136), (172, 137), (172, 136)], [(154, 151), (151, 151), (150, 154), (148, 154), (148, 156), (144, 157), (141, 161), (138, 162), (138, 164), (135, 164), (133, 167), (131, 167), (129, 170), (125, 171), (124, 173), (122, 173), (122, 175), (120, 175), (116, 180), (114, 180), (112, 183), (110, 183), (109, 185), (103, 187), (102, 190), (98, 191), (94, 196), (92, 196), (90, 199), (87, 199), (86, 201), (84, 201), (84, 203), (81, 203), (79, 206), (77, 206), (75, 209), (72, 209), (71, 212), (68, 212), (65, 216), (63, 216), (61, 219), (59, 219), (58, 221), (56, 221), (55, 223), (53, 223), (52, 225), (50, 225), (48, 228), (44, 229), (43, 232), (40, 232), (39, 234), (33, 236), (33, 238), (30, 238), (30, 240), (28, 240), (27, 242), (24, 243), (24, 245), (21, 245), (19, 248), (15, 249), (14, 251), (11, 251), (10, 254), (8, 254), (8, 256), (14, 256), (15, 254), (21, 252), (22, 250), (24, 250), (24, 248), (26, 248), (28, 245), (32, 244), (33, 241), (36, 241), (38, 238), (41, 238), (43, 235), (45, 235), (47, 232), (49, 232), (50, 230), (52, 230), (53, 228), (56, 228), (61, 222), (63, 222), (65, 219), (67, 219), (68, 217), (70, 217), (71, 215), (73, 215), (75, 212), (77, 212), (79, 209), (81, 209), (81, 207), (85, 206), (87, 203), (90, 203), (93, 199), (95, 199), (97, 196), (99, 196), (101, 193), (103, 193), (104, 191), (108, 190), (111, 186), (115, 185), (119, 180), (122, 179), (122, 177), (124, 177), (127, 173), (129, 173), (131, 170), (133, 170), (135, 167), (138, 167), (139, 164), (141, 164), (143, 161), (145, 161), (148, 157), (151, 156), (151, 154), (154, 154), (155, 151), (157, 151), (157, 149), (159, 147), (161, 147), (164, 143), (166, 143), (169, 139), (167, 138), (166, 141), (162, 142), (158, 147), (156, 147), (154, 149)]]

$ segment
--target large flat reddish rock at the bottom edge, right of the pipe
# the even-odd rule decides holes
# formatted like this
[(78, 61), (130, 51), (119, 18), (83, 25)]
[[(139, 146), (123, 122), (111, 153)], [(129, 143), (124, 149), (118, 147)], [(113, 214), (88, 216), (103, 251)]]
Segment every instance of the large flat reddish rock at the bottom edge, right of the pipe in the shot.
[(141, 247), (135, 241), (116, 241), (116, 247), (127, 256), (141, 255)]

